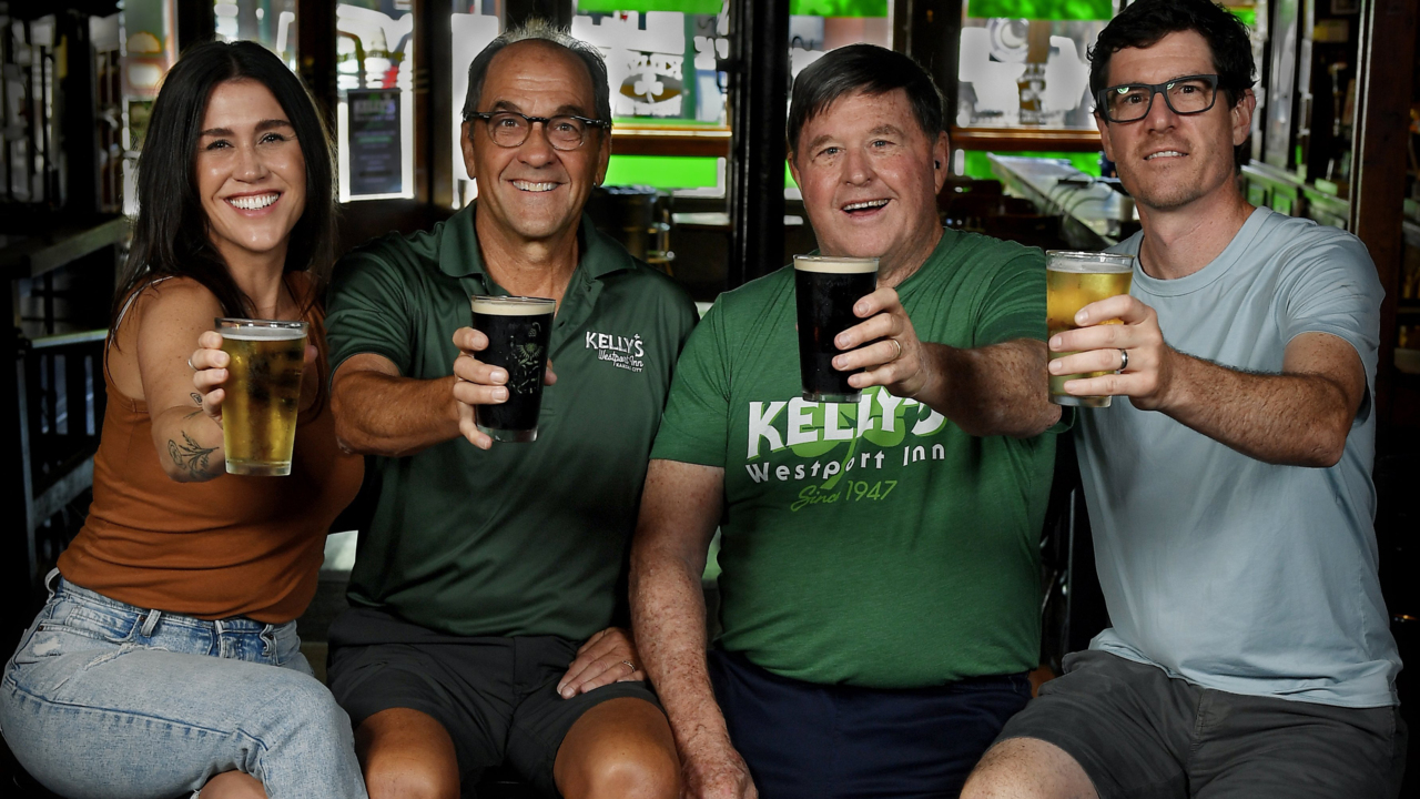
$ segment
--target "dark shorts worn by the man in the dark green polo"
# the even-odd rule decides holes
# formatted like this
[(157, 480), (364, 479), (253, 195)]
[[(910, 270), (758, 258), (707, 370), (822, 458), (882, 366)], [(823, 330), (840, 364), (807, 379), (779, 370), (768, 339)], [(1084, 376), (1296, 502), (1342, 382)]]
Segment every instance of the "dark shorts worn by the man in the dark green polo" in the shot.
[(541, 793), (557, 796), (552, 763), (582, 714), (621, 697), (660, 707), (645, 682), (559, 697), (557, 682), (579, 645), (557, 636), (444, 636), (351, 608), (331, 624), (328, 682), (355, 726), (392, 708), (439, 721), (453, 738), (466, 788), (483, 769), (507, 762)]

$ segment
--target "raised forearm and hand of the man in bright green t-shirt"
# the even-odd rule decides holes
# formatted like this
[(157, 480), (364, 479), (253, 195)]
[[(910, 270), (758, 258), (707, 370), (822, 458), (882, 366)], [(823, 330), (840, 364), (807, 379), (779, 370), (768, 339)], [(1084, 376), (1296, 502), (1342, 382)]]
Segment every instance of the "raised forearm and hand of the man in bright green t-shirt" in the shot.
[(893, 289), (863, 297), (853, 313), (866, 321), (838, 336), (838, 348), (851, 351), (834, 358), (835, 368), (868, 370), (849, 377), (851, 385), (885, 385), (896, 397), (926, 402), (968, 435), (1028, 438), (1059, 421), (1041, 378), (1048, 357), (1042, 341), (971, 350), (924, 343)]

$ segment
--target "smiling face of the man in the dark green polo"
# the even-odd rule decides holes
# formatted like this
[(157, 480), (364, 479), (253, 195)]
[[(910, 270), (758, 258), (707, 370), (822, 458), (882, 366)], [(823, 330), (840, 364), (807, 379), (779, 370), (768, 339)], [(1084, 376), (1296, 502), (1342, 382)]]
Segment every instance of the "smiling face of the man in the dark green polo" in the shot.
[[(586, 65), (564, 47), (520, 41), (488, 63), (479, 111), (517, 111), (528, 117), (596, 118)], [(463, 162), (479, 181), (480, 230), (493, 225), (524, 242), (565, 237), (577, 230), (582, 206), (606, 173), (611, 136), (589, 128), (582, 146), (552, 149), (542, 124), (520, 146), (498, 146), (487, 122), (463, 124)]]

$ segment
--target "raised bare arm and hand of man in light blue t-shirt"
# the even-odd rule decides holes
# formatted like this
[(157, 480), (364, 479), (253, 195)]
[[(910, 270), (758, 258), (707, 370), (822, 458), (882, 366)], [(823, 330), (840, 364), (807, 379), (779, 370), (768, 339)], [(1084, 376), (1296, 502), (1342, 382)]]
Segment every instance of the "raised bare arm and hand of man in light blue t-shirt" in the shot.
[(1304, 333), (1288, 343), (1281, 374), (1252, 374), (1179, 353), (1159, 328), (1159, 316), (1122, 296), (1081, 309), (1076, 323), (1119, 318), (1051, 338), (1076, 355), (1051, 363), (1054, 374), (1118, 370), (1072, 380), (1076, 395), (1118, 394), (1136, 408), (1159, 411), (1238, 452), (1288, 466), (1332, 466), (1366, 397), (1366, 372), (1355, 347), (1328, 333)]

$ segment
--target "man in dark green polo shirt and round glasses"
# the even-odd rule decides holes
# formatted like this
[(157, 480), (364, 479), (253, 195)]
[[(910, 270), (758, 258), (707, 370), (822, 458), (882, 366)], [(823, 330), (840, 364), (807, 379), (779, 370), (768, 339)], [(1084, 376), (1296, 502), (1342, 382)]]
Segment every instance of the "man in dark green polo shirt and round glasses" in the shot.
[[(535, 24), (469, 68), (479, 200), (346, 256), (331, 287), (331, 407), (375, 456), (331, 691), (373, 799), (456, 798), (510, 763), (542, 793), (676, 796), (666, 717), (613, 627), (638, 499), (694, 306), (582, 216), (611, 155), (595, 48)], [(471, 294), (558, 301), (532, 444), (493, 444), (507, 398)]]

